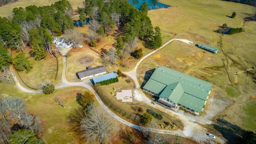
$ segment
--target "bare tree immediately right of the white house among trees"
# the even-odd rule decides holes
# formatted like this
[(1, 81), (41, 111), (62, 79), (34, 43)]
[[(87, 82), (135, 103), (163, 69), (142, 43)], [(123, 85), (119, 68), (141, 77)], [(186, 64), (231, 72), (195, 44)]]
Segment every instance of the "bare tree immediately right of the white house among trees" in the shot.
[(83, 35), (77, 30), (65, 30), (64, 42), (66, 42), (67, 44), (73, 43), (73, 47), (75, 47), (77, 44), (82, 42), (82, 40)]

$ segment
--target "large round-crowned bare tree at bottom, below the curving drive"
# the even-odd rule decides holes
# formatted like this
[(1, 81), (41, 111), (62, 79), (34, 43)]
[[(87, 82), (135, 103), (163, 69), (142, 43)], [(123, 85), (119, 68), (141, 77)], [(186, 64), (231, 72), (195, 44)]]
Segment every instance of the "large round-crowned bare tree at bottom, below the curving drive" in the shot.
[(106, 111), (96, 108), (90, 111), (86, 118), (80, 123), (80, 130), (86, 140), (103, 143), (114, 138), (118, 126), (113, 122)]

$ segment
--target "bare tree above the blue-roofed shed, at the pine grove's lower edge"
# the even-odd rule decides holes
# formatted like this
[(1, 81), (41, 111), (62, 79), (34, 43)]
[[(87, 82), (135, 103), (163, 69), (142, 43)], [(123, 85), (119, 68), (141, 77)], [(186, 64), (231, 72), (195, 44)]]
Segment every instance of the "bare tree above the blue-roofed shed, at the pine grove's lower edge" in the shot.
[(116, 58), (119, 58), (118, 54), (116, 50), (112, 47), (110, 48), (110, 50), (108, 50), (108, 52), (106, 52), (106, 54), (104, 54), (103, 63), (107, 65), (115, 64)]

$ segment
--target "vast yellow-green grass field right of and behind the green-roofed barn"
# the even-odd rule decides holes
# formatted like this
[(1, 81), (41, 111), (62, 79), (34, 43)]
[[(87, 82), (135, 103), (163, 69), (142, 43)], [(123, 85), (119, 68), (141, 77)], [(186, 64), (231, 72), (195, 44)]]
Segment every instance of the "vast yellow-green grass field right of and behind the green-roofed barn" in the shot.
[[(158, 66), (167, 66), (218, 87), (214, 97), (230, 101), (230, 105), (218, 115), (246, 130), (256, 130), (256, 109), (252, 108), (256, 93), (255, 72), (238, 74), (236, 72), (256, 66), (256, 22), (243, 22), (243, 18), (255, 13), (255, 8), (245, 4), (220, 0), (160, 0), (172, 7), (150, 10), (153, 26), (174, 32), (176, 38), (188, 39), (194, 44), (202, 42), (219, 48), (217, 54), (204, 52), (196, 46), (174, 41), (164, 49), (142, 62), (138, 68), (138, 78), (143, 81), (145, 72)], [(236, 12), (235, 18), (230, 18)], [(215, 31), (226, 23), (232, 28), (244, 28), (244, 32), (222, 35)]]

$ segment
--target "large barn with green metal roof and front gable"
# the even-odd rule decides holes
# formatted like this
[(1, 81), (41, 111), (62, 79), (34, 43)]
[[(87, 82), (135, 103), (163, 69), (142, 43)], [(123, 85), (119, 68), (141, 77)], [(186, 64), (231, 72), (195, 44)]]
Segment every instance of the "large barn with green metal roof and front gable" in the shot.
[(200, 114), (212, 84), (165, 66), (156, 68), (143, 90), (158, 96), (158, 102), (174, 111), (179, 107)]

